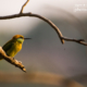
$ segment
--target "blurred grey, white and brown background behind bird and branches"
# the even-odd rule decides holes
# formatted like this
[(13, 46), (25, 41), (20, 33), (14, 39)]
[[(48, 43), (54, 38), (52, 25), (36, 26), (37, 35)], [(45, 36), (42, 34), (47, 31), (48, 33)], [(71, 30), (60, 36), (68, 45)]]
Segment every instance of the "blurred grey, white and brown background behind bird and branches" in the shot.
[[(25, 1), (0, 0), (0, 16), (17, 14)], [(86, 0), (30, 0), (26, 12), (52, 21), (65, 37), (87, 41)], [(24, 41), (22, 51), (15, 55), (27, 73), (0, 61), (1, 87), (62, 87), (65, 78), (87, 86), (86, 46), (73, 41), (62, 45), (55, 30), (37, 17), (0, 20), (0, 46), (17, 34), (32, 38)]]

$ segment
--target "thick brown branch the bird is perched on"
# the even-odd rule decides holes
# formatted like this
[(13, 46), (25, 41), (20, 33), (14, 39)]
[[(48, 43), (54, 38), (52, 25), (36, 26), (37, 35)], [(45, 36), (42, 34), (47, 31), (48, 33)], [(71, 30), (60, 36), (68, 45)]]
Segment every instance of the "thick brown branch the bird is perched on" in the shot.
[(3, 51), (2, 47), (0, 47), (0, 58), (3, 58), (9, 63), (11, 63), (11, 64), (20, 67), (22, 71), (26, 72), (26, 69), (24, 67), (24, 65), (20, 61), (15, 60), (14, 58), (8, 57), (5, 54), (5, 52)]

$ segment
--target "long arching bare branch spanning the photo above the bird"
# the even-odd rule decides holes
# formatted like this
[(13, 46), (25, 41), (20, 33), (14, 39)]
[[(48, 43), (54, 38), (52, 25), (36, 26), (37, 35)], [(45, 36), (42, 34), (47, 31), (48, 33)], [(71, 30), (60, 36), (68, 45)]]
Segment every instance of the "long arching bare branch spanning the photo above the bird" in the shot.
[(60, 37), (60, 40), (62, 44), (64, 44), (64, 40), (66, 41), (75, 41), (75, 42), (78, 42), (78, 44), (82, 44), (84, 46), (87, 46), (87, 42), (85, 42), (84, 39), (72, 39), (72, 38), (67, 38), (67, 37), (64, 37), (61, 33), (61, 30), (48, 18), (41, 16), (41, 15), (38, 15), (38, 14), (33, 14), (33, 13), (21, 13), (21, 14), (13, 14), (13, 15), (7, 15), (7, 16), (0, 16), (0, 20), (10, 20), (10, 18), (16, 18), (16, 17), (22, 17), (22, 16), (34, 16), (34, 17), (38, 17), (45, 22), (47, 22), (58, 34), (58, 36)]

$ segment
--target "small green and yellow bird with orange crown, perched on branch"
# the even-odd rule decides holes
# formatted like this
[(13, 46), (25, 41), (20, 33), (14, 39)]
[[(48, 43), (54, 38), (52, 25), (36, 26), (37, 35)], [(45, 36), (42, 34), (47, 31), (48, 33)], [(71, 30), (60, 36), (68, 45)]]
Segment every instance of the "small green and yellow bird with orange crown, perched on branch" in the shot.
[[(7, 55), (14, 58), (15, 54), (22, 50), (22, 46), (25, 39), (32, 38), (24, 38), (22, 35), (15, 35), (11, 40), (3, 45), (2, 49)], [(0, 58), (0, 60), (2, 60), (2, 58)]]

